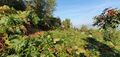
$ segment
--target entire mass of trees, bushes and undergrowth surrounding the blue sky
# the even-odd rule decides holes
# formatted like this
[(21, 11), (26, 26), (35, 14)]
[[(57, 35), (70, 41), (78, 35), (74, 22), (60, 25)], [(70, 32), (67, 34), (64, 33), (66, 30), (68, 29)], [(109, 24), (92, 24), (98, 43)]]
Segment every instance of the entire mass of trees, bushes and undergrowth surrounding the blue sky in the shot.
[(95, 16), (99, 29), (73, 28), (54, 9), (55, 0), (0, 0), (0, 57), (120, 57), (119, 9)]

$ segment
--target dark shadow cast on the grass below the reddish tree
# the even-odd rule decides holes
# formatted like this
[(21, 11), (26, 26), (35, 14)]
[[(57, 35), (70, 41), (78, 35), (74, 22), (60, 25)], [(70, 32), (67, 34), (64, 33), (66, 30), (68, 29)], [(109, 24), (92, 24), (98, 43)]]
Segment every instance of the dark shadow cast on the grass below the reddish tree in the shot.
[(96, 50), (100, 53), (100, 57), (120, 57), (120, 53), (116, 51), (114, 48), (97, 41), (94, 38), (88, 37), (84, 39), (88, 44), (86, 44), (86, 49), (92, 51)]

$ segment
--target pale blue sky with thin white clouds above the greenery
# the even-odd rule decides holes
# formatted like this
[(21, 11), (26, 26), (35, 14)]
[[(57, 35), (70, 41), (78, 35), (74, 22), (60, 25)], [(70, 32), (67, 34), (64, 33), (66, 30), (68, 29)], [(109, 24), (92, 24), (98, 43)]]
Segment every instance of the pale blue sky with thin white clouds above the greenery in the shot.
[(92, 25), (93, 17), (108, 7), (120, 8), (120, 0), (57, 0), (54, 15), (71, 19), (74, 26)]

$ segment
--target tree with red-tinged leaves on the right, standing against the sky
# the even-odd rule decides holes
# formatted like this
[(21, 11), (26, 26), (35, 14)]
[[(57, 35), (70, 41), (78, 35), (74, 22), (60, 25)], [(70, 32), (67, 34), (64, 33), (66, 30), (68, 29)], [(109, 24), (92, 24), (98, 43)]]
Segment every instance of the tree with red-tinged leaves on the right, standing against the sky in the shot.
[(106, 8), (103, 13), (94, 18), (94, 26), (104, 29), (103, 37), (106, 41), (111, 41), (111, 34), (120, 24), (120, 10)]

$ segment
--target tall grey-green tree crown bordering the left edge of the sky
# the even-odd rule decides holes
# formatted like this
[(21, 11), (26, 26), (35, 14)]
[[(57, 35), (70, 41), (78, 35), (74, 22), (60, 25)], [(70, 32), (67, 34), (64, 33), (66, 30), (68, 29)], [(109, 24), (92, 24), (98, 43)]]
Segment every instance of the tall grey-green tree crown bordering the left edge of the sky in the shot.
[(40, 18), (46, 18), (52, 15), (55, 9), (56, 0), (34, 0), (35, 12)]

